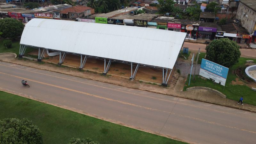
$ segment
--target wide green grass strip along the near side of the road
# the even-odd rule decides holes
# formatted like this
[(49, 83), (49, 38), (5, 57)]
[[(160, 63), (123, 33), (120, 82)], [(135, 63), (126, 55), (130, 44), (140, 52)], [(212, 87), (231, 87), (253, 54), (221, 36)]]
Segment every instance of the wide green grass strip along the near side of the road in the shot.
[(28, 118), (43, 132), (44, 143), (67, 144), (72, 137), (91, 138), (101, 144), (182, 144), (148, 132), (0, 91), (0, 119)]

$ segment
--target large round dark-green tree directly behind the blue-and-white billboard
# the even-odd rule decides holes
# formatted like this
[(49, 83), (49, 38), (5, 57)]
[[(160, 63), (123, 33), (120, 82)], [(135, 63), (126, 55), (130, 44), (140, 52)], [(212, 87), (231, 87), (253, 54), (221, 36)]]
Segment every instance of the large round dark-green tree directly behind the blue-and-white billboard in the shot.
[(207, 60), (227, 68), (231, 68), (236, 64), (241, 55), (239, 45), (228, 38), (213, 40), (205, 49)]

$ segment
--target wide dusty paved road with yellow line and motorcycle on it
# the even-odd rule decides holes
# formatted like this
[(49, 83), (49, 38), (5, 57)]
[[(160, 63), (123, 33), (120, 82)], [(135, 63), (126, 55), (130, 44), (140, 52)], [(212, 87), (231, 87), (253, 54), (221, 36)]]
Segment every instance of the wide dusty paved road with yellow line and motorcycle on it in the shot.
[[(256, 113), (0, 61), (0, 90), (189, 143), (254, 144)], [(30, 88), (23, 87), (21, 80)]]

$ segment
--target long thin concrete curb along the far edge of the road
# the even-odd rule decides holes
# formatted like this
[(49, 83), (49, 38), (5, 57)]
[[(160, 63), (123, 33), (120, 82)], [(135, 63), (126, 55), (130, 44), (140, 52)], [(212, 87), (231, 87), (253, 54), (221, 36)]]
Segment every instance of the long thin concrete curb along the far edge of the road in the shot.
[[(16, 55), (16, 54), (15, 54), (15, 55)], [(4, 60), (0, 60), (0, 61), (4, 61)], [(32, 67), (32, 66), (27, 66), (27, 65), (15, 63), (15, 62), (9, 62), (9, 61), (4, 61), (4, 62), (13, 63), (13, 64), (17, 64), (17, 65), (21, 65), (21, 66), (26, 66), (26, 67), (30, 67), (30, 68), (36, 68), (36, 67)], [(49, 69), (44, 69), (44, 68), (36, 68), (36, 69), (52, 71), (52, 72), (56, 72), (56, 73), (60, 73), (60, 74), (64, 74), (64, 75), (69, 75), (69, 76), (76, 76), (76, 75), (66, 74), (66, 73), (63, 73), (63, 72), (54, 71), (54, 70), (49, 70)], [(94, 81), (98, 81), (98, 82), (103, 82), (103, 83), (108, 83), (108, 84), (114, 84), (114, 83), (110, 83), (110, 82), (108, 82), (108, 81), (102, 81), (102, 80), (93, 79), (93, 78), (89, 78), (89, 77), (83, 77), (83, 76), (76, 76), (76, 77), (85, 78), (85, 79), (90, 79), (90, 80), (94, 80)], [(115, 84), (115, 85), (123, 86), (123, 87), (129, 87), (129, 86), (121, 85), (121, 84)], [(211, 104), (216, 104), (216, 105), (220, 105), (220, 106), (225, 106), (225, 107), (229, 107), (229, 108), (236, 108), (236, 109), (241, 109), (241, 110), (245, 110), (245, 111), (250, 111), (250, 112), (255, 112), (255, 113), (256, 113), (256, 111), (254, 111), (254, 110), (250, 110), (250, 109), (246, 109), (246, 108), (237, 108), (237, 107), (234, 107), (234, 106), (225, 105), (225, 104), (219, 104), (219, 103), (210, 102), (210, 101), (197, 100), (197, 99), (193, 99), (193, 98), (190, 98), (190, 97), (186, 97), (186, 96), (180, 95), (180, 94), (178, 94), (178, 93), (177, 93), (177, 94), (167, 94), (167, 93), (164, 93), (164, 92), (156, 92), (156, 91), (151, 91), (151, 90), (143, 89), (143, 88), (134, 88), (134, 87), (129, 87), (129, 88), (138, 89), (138, 90), (143, 90), (143, 91), (148, 91), (148, 92), (155, 92), (155, 93), (159, 93), (159, 94), (164, 94), (164, 95), (169, 95), (169, 96), (175, 96), (175, 97), (184, 98), (184, 99), (189, 99), (189, 100), (196, 100), (196, 101), (201, 101), (201, 102), (207, 102), (207, 103), (211, 103)], [(216, 90), (216, 91), (217, 91), (217, 90)], [(223, 94), (223, 95), (224, 95), (224, 94)]]

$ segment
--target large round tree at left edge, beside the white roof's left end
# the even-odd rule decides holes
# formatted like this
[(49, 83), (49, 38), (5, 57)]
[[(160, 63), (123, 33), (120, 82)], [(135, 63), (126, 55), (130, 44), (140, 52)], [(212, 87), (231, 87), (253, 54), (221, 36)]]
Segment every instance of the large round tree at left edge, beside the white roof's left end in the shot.
[(1, 36), (4, 38), (17, 38), (21, 36), (23, 29), (24, 25), (19, 20), (12, 18), (0, 19), (0, 32), (3, 33)]

